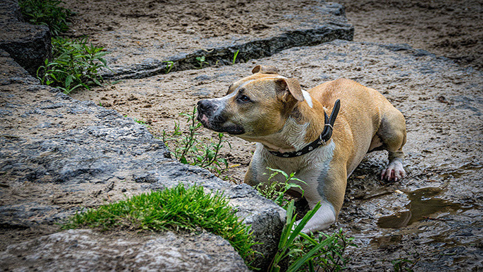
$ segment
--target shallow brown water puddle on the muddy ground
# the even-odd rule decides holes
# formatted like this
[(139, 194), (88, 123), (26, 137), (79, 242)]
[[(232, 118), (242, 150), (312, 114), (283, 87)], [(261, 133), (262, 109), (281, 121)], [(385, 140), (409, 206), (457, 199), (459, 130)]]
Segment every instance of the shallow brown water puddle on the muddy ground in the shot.
[(466, 211), (473, 207), (472, 205), (457, 204), (435, 197), (440, 193), (442, 193), (442, 189), (435, 187), (421, 188), (406, 193), (411, 201), (406, 206), (406, 211), (381, 217), (377, 221), (377, 226), (383, 229), (399, 229), (418, 222), (433, 213)]

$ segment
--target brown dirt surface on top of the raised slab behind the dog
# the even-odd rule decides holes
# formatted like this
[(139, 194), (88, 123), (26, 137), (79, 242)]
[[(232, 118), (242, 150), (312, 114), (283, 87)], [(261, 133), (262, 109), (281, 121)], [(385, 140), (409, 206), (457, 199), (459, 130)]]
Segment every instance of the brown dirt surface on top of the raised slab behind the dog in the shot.
[(88, 35), (93, 43), (105, 46), (111, 52), (106, 57), (110, 67), (148, 58), (167, 61), (197, 50), (246, 43), (253, 37), (313, 28), (327, 17), (338, 17), (325, 10), (314, 12), (320, 6), (316, 0), (66, 2), (78, 12), (68, 35)]

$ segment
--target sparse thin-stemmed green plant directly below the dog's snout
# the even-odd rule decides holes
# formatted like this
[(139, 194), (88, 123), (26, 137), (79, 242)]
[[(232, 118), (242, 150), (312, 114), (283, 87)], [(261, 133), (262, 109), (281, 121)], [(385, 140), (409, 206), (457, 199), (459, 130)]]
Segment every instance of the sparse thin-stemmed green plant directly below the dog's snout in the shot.
[[(179, 162), (207, 168), (220, 177), (228, 170), (228, 161), (219, 157), (219, 150), (226, 142), (223, 139), (224, 134), (215, 133), (215, 137), (211, 138), (200, 137), (198, 131), (201, 123), (196, 120), (196, 112), (195, 107), (192, 113), (180, 114), (180, 116), (187, 117), (188, 131), (181, 131), (179, 122), (175, 122), (175, 127), (171, 132), (163, 130), (162, 140)], [(229, 143), (228, 146), (230, 146)]]

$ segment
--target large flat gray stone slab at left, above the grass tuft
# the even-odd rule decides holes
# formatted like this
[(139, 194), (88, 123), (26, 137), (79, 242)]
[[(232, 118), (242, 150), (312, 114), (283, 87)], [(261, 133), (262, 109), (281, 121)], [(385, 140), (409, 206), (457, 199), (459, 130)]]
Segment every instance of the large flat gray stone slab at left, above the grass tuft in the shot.
[[(175, 162), (145, 126), (38, 85), (6, 52), (0, 67), (2, 247), (26, 239), (12, 229), (55, 226), (81, 208), (181, 183), (225, 192), (264, 243), (256, 250), (266, 257), (276, 250), (285, 211), (250, 186), (231, 186), (209, 171)], [(255, 265), (266, 266), (267, 260), (260, 257)]]

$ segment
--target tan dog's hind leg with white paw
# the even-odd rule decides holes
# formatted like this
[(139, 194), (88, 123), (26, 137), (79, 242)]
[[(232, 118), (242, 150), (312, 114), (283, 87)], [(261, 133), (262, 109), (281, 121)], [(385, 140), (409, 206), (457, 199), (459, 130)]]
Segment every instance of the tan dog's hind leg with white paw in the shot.
[(406, 144), (406, 121), (399, 110), (392, 108), (382, 115), (376, 135), (380, 137), (382, 148), (388, 150), (389, 164), (381, 173), (381, 179), (395, 182), (406, 175), (402, 162), (402, 147)]

